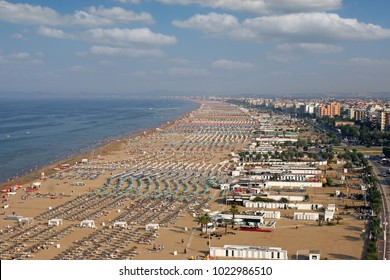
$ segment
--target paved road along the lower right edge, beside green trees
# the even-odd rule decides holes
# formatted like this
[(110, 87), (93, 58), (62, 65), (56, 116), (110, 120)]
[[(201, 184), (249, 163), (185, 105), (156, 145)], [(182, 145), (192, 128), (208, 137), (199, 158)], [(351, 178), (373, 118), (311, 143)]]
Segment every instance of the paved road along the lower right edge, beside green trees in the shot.
[[(382, 199), (383, 199), (383, 210), (381, 213), (381, 219), (382, 219), (382, 226), (383, 226), (383, 235), (378, 240), (379, 242), (379, 257), (381, 259), (389, 260), (390, 257), (390, 174), (388, 173), (389, 166), (383, 166), (379, 164), (376, 161), (371, 161), (371, 164), (373, 165), (374, 173), (378, 177), (379, 180), (379, 186), (380, 191), (382, 193)], [(386, 177), (383, 177), (382, 174), (386, 174)]]

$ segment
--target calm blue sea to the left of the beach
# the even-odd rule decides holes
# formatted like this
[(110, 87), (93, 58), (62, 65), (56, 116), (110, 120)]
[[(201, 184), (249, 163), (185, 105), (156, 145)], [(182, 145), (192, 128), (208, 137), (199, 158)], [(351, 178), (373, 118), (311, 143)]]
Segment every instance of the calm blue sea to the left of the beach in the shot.
[(182, 99), (0, 101), (0, 183), (196, 108)]

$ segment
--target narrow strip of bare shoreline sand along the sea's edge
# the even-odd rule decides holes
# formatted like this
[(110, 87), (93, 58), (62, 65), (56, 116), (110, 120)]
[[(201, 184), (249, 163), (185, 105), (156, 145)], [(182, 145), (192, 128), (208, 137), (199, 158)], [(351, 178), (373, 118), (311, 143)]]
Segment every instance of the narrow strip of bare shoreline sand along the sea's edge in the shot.
[(122, 136), (114, 137), (114, 138), (108, 138), (105, 140), (101, 140), (100, 144), (95, 144), (96, 146), (92, 145), (91, 147), (87, 148), (87, 151), (81, 152), (81, 153), (76, 153), (74, 155), (68, 155), (65, 156), (59, 160), (56, 160), (52, 163), (46, 163), (41, 167), (38, 167), (37, 169), (27, 172), (26, 174), (12, 179), (9, 182), (4, 181), (0, 183), (0, 190), (3, 190), (7, 187), (14, 186), (14, 185), (25, 185), (25, 184), (30, 184), (34, 180), (41, 181), (40, 180), (40, 175), (41, 172), (43, 171), (45, 173), (45, 177), (48, 177), (58, 171), (54, 170), (55, 167), (61, 165), (61, 164), (69, 164), (70, 166), (74, 165), (77, 162), (80, 162), (84, 158), (90, 158), (95, 152), (98, 152), (97, 154), (104, 156), (108, 155), (110, 152), (119, 150), (119, 146), (123, 144), (124, 142), (134, 139), (136, 137), (140, 137), (143, 135), (149, 135), (150, 133), (155, 132), (157, 129), (164, 129), (169, 127), (170, 125), (174, 124), (175, 122), (185, 118), (188, 116), (188, 114), (198, 110), (200, 108), (200, 103), (196, 102), (195, 100), (192, 99), (186, 99), (186, 98), (180, 98), (180, 100), (185, 100), (187, 102), (191, 102), (196, 105), (196, 107), (192, 110), (189, 110), (185, 113), (180, 114), (179, 116), (166, 121), (159, 126), (152, 127), (152, 128), (139, 128), (136, 131), (141, 130), (141, 132), (130, 132)]

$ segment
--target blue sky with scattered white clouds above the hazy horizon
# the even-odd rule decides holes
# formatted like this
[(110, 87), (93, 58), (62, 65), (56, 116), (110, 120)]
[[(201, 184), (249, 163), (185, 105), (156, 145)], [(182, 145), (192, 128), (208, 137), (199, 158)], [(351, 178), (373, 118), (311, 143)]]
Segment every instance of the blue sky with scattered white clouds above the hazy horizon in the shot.
[(0, 0), (0, 92), (390, 92), (389, 11), (388, 0)]

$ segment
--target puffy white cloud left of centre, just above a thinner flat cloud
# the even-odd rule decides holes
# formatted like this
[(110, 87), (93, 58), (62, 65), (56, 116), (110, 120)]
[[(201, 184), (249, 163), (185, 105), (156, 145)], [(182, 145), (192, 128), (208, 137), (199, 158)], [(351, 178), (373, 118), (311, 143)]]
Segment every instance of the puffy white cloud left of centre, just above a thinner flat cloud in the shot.
[(88, 30), (86, 34), (90, 40), (110, 45), (147, 44), (160, 46), (177, 42), (174, 36), (154, 33), (149, 28), (96, 28)]

